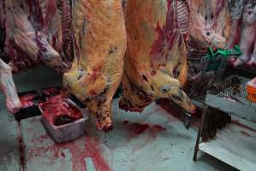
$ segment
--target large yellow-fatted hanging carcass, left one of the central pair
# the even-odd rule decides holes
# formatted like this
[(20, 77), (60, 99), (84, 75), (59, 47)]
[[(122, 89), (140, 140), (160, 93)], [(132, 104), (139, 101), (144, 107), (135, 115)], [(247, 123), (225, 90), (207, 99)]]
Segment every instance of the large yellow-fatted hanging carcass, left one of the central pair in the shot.
[(63, 75), (63, 86), (96, 115), (98, 129), (109, 129), (126, 49), (122, 3), (74, 0), (72, 11), (74, 62)]

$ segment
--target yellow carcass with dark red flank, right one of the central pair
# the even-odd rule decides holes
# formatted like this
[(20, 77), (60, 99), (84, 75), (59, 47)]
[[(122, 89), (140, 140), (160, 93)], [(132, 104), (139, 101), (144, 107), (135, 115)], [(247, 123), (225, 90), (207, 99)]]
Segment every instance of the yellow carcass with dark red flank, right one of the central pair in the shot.
[(128, 0), (128, 47), (119, 103), (122, 109), (142, 111), (163, 97), (194, 111), (182, 91), (187, 80), (187, 59), (176, 6), (176, 0)]

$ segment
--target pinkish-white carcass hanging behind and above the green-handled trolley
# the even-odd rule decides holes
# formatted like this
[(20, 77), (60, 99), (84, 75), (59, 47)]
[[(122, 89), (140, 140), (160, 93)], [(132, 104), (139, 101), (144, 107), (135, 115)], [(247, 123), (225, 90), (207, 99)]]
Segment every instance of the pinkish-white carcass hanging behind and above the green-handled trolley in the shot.
[(229, 38), (229, 6), (225, 0), (187, 0), (189, 41), (197, 50), (224, 48)]

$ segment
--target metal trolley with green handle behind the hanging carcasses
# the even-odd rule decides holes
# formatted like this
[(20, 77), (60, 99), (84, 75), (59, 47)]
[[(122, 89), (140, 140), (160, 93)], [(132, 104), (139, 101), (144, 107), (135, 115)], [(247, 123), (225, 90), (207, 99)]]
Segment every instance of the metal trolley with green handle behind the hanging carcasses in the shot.
[[(188, 96), (193, 99), (193, 101), (202, 101), (205, 98), (205, 93), (207, 89), (203, 92), (200, 97), (193, 97), (193, 92), (198, 86), (198, 80), (200, 77), (204, 77), (209, 73), (212, 74), (211, 81), (204, 85), (205, 87), (211, 87), (214, 83), (217, 83), (223, 78), (224, 71), (227, 67), (228, 60), (230, 56), (241, 56), (241, 50), (238, 45), (235, 45), (233, 50), (221, 50), (218, 49), (213, 51), (208, 48), (208, 54), (205, 56), (200, 56), (199, 54), (188, 53), (188, 85), (187, 93)], [(189, 81), (190, 80), (190, 81)], [(191, 115), (187, 112), (185, 113), (185, 127), (190, 127)]]

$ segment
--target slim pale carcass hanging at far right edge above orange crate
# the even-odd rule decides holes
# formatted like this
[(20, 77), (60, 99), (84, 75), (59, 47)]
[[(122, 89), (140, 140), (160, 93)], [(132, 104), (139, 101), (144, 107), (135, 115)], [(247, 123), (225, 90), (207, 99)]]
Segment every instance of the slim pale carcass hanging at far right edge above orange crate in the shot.
[[(243, 52), (234, 62), (234, 66), (248, 62), (255, 64), (256, 50), (256, 2), (255, 0), (245, 1), (241, 19), (241, 42), (240, 47)], [(254, 49), (254, 50), (253, 50)]]

